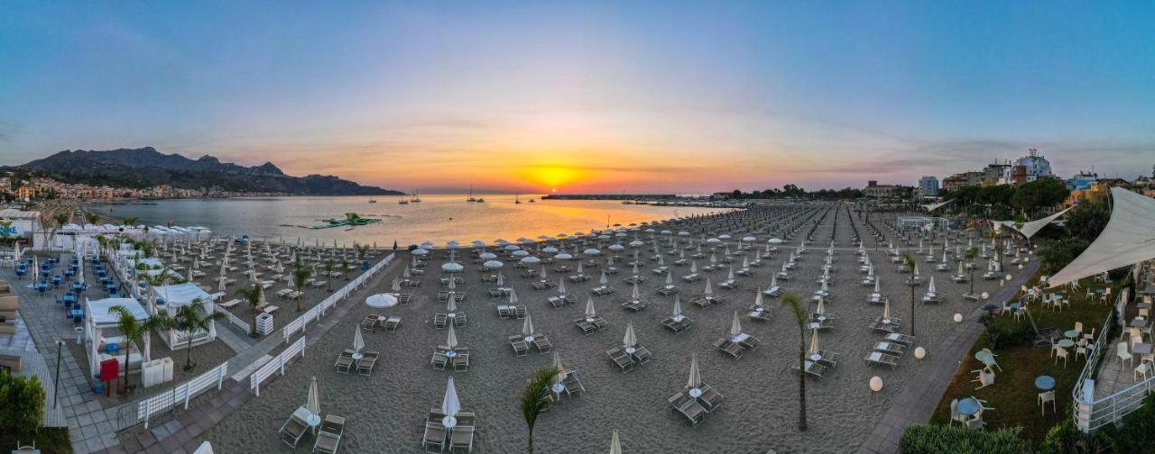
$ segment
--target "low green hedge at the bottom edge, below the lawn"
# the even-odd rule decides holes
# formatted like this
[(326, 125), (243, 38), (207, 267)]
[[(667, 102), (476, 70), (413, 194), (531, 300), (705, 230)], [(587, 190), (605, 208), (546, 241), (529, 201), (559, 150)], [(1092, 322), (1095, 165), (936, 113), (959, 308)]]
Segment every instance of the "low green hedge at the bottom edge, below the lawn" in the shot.
[(1024, 454), (1027, 441), (1019, 427), (983, 431), (954, 425), (915, 424), (899, 442), (902, 454)]

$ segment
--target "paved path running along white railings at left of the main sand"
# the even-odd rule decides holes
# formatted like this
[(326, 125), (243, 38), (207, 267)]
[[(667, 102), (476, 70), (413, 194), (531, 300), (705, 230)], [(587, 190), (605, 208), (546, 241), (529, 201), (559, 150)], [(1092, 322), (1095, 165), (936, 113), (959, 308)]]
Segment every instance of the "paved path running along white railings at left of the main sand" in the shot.
[[(364, 301), (370, 294), (381, 288), (381, 280), (389, 275), (398, 264), (404, 260), (394, 260), (383, 270), (377, 273), (362, 286), (360, 289), (349, 295), (345, 301), (337, 304), (331, 311), (315, 323), (310, 324), (305, 332), (305, 345), (311, 346), (325, 336), (329, 330), (336, 326), (355, 305)], [(239, 338), (232, 326), (218, 331), (228, 332), (225, 335)], [(248, 343), (245, 339), (226, 340), (230, 346), (236, 342)], [(273, 350), (284, 347), (284, 338), (277, 330), (273, 334), (252, 343), (244, 350), (237, 353), (229, 360), (229, 373), (231, 379), (225, 380), (224, 387), (208, 399), (208, 402), (199, 402), (176, 418), (147, 430), (135, 430), (121, 434), (119, 444), (109, 445), (106, 449), (96, 451), (100, 453), (192, 453), (201, 444), (201, 438), (214, 425), (223, 421), (230, 413), (240, 408), (252, 399), (253, 392), (248, 386), (248, 376), (256, 369), (254, 363), (263, 362), (266, 355)], [(307, 349), (308, 347), (306, 347)], [(276, 379), (276, 376), (271, 378)]]

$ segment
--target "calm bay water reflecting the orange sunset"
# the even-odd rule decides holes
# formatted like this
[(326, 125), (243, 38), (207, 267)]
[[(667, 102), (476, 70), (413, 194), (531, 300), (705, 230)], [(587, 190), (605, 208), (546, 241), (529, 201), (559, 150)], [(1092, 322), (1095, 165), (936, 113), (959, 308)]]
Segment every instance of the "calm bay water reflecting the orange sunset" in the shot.
[[(139, 218), (147, 225), (203, 226), (216, 235), (248, 235), (307, 242), (373, 243), (381, 247), (449, 240), (469, 243), (497, 239), (573, 234), (606, 225), (627, 226), (679, 215), (718, 212), (720, 209), (623, 205), (614, 200), (541, 200), (537, 196), (485, 195), (485, 203), (468, 203), (464, 196), (422, 196), (422, 203), (401, 205), (397, 197), (268, 197), (229, 199), (158, 200), (155, 204), (92, 205), (100, 214)], [(378, 218), (381, 222), (356, 227), (308, 229), (344, 213)]]

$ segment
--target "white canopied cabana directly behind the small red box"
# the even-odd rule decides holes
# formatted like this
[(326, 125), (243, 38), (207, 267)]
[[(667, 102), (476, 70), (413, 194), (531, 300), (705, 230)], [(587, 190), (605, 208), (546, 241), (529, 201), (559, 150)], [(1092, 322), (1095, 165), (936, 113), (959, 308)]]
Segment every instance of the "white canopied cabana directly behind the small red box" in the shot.
[[(150, 360), (151, 346), (149, 338), (144, 336), (143, 351), (135, 350), (126, 339), (117, 331), (120, 316), (112, 312), (112, 308), (121, 305), (128, 310), (137, 321), (148, 319), (148, 311), (136, 298), (104, 298), (84, 301), (84, 349), (88, 351), (89, 376), (95, 377), (100, 373), (100, 362), (105, 360), (125, 361), (125, 350), (128, 353), (128, 373), (139, 372), (141, 364)], [(109, 346), (116, 345), (110, 351)], [(120, 365), (124, 368), (124, 364)]]

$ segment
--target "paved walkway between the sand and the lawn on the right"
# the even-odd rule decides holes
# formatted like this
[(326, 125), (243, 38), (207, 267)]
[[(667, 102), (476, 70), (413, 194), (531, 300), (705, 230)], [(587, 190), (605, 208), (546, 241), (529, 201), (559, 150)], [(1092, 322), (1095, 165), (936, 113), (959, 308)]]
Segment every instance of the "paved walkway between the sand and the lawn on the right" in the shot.
[[(1037, 270), (1037, 260), (1028, 263), (1018, 277), (991, 297), (990, 302), (1000, 304), (1011, 300)], [(897, 453), (899, 441), (907, 426), (930, 421), (961, 361), (970, 354), (970, 348), (983, 332), (983, 325), (978, 323), (978, 317), (982, 315), (981, 304), (954, 328), (940, 351), (926, 353), (929, 357), (926, 361), (931, 362), (931, 366), (922, 369), (921, 377), (910, 380), (902, 394), (899, 394), (894, 404), (874, 426), (874, 431), (858, 448), (859, 454)]]

